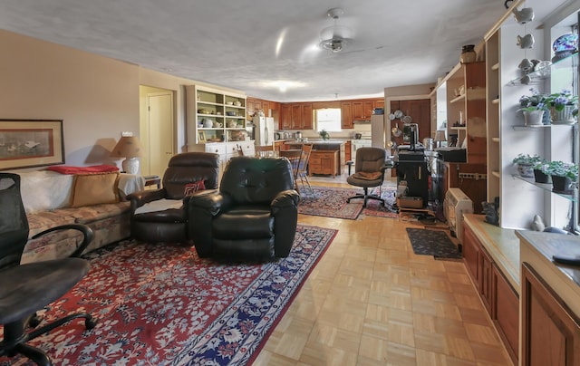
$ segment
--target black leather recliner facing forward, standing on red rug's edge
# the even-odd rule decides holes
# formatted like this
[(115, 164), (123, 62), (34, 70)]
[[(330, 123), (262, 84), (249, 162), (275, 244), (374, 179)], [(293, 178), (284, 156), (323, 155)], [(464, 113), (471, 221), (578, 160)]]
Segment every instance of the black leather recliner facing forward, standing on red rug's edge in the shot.
[(219, 190), (189, 199), (189, 237), (201, 257), (269, 261), (294, 243), (300, 196), (285, 158), (235, 157)]

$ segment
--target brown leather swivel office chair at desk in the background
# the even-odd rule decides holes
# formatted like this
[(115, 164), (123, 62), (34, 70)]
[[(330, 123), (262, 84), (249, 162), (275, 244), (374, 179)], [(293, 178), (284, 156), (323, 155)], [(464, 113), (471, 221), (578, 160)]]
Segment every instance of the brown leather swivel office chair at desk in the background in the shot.
[(351, 199), (362, 198), (364, 200), (362, 207), (366, 207), (369, 199), (375, 199), (381, 201), (382, 206), (384, 206), (384, 199), (380, 196), (369, 194), (369, 188), (382, 187), (386, 159), (387, 152), (385, 149), (356, 149), (354, 173), (346, 178), (346, 182), (353, 186), (362, 187), (364, 193), (349, 197), (346, 202), (351, 202)]

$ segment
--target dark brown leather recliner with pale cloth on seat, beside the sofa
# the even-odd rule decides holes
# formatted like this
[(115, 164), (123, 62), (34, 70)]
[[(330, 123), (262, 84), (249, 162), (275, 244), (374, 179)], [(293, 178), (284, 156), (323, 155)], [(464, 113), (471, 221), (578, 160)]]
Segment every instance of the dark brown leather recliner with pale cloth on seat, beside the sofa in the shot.
[[(131, 236), (147, 242), (185, 243), (188, 236), (186, 186), (203, 180), (206, 189), (218, 188), (219, 155), (184, 152), (169, 159), (162, 188), (143, 190), (127, 196), (131, 200)], [(138, 207), (160, 199), (181, 200), (176, 208), (135, 213)], [(181, 207), (179, 207), (181, 206)]]

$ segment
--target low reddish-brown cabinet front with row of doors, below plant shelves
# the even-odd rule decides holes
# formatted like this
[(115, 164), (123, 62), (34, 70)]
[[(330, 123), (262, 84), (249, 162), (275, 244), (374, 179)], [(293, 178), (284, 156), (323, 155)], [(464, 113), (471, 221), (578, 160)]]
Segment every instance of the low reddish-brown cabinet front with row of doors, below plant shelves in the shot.
[[(469, 225), (463, 226), (463, 261), (479, 297), (506, 345), (509, 357), (517, 364), (519, 297), (494, 263)], [(546, 363), (547, 364), (547, 363)]]

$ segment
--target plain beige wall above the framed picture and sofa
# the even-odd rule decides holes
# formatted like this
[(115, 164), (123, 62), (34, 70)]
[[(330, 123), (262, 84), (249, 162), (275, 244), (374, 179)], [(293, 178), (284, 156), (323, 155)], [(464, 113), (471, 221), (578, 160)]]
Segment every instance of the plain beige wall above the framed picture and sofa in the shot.
[(122, 130), (139, 131), (139, 69), (0, 30), (1, 118), (63, 120), (65, 162), (111, 163)]

